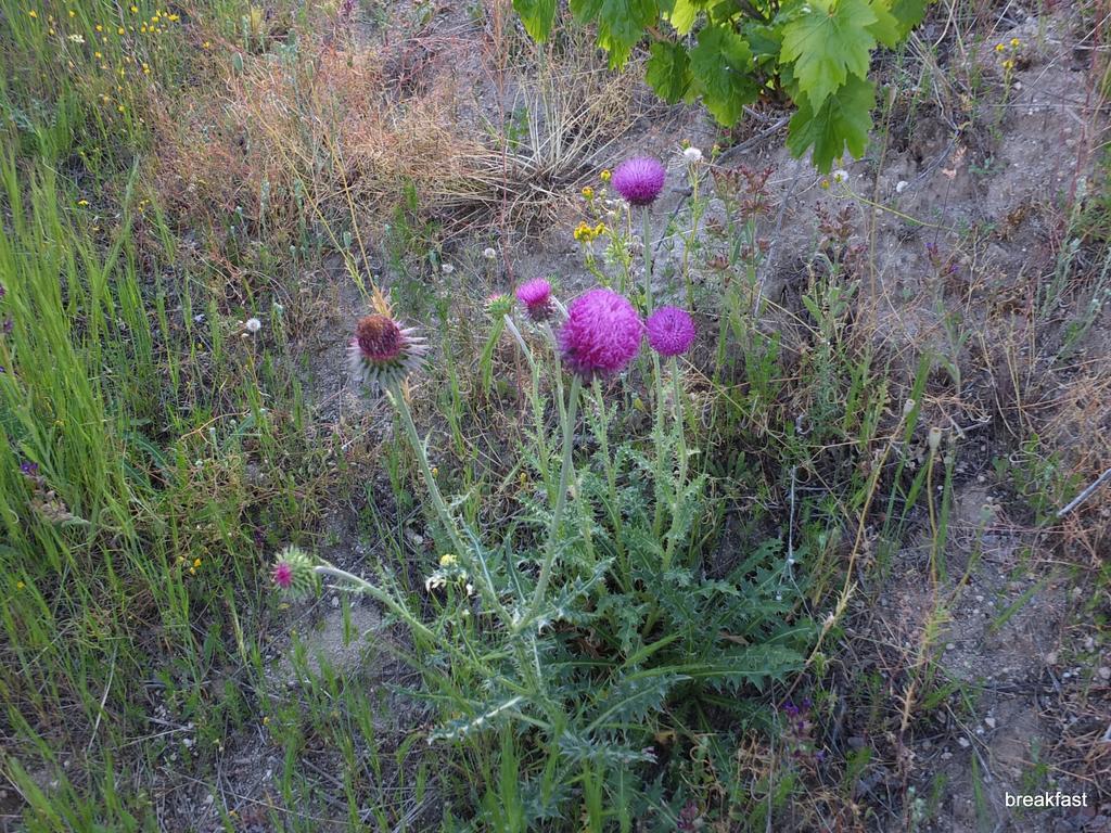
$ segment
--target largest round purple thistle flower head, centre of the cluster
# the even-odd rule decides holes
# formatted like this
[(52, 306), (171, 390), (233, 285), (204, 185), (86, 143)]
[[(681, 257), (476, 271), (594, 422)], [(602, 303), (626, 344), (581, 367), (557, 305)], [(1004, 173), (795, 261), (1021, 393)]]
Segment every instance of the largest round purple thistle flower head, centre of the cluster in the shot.
[(640, 350), (644, 323), (629, 299), (592, 289), (571, 302), (559, 334), (563, 361), (580, 377), (620, 373)]

